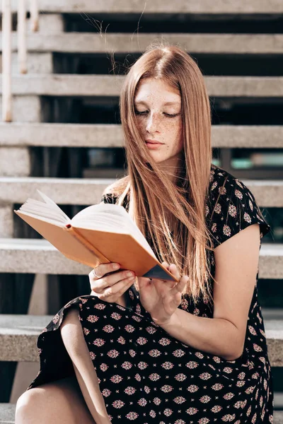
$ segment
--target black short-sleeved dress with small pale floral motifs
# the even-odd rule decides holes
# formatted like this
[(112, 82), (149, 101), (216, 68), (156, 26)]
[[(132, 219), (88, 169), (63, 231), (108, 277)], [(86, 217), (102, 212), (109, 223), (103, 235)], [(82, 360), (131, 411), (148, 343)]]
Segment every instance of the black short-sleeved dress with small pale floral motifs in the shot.
[[(260, 224), (260, 237), (270, 230), (250, 190), (215, 165), (206, 218), (215, 247), (253, 223)], [(213, 256), (212, 252), (212, 275)], [(82, 295), (62, 307), (38, 337), (40, 371), (28, 389), (74, 375), (59, 326), (67, 311), (76, 307), (112, 423), (273, 422), (272, 374), (256, 286), (243, 354), (236, 360), (224, 360), (171, 337), (151, 320), (134, 285), (127, 295), (127, 307), (93, 295)], [(195, 304), (185, 295), (179, 307), (213, 318), (206, 299)]]

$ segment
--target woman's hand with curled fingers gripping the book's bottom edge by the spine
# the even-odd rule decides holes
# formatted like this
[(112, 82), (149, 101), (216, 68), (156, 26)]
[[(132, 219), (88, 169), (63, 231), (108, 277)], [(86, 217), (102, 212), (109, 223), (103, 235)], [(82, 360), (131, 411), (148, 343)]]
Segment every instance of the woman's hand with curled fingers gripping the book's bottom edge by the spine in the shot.
[[(118, 269), (120, 269), (120, 265), (113, 262), (96, 266), (95, 270), (99, 278), (94, 275), (93, 271), (88, 274), (91, 295), (95, 295), (105, 302), (117, 302), (136, 278), (134, 271), (127, 269), (117, 271)], [(132, 276), (128, 276), (128, 273), (132, 273)]]

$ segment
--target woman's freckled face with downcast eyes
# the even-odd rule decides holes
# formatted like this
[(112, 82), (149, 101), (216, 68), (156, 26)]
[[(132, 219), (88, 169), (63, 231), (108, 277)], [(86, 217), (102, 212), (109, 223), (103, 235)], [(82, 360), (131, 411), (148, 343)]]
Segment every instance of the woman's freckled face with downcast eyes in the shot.
[(134, 98), (139, 132), (144, 140), (160, 141), (146, 144), (156, 163), (174, 165), (183, 151), (181, 97), (178, 90), (162, 79), (141, 80)]

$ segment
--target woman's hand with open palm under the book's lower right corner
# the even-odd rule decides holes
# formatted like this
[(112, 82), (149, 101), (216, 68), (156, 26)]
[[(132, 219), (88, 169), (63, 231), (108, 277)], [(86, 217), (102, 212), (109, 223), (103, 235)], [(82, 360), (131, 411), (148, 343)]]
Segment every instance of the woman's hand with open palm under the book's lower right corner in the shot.
[(137, 278), (141, 305), (151, 314), (151, 318), (158, 325), (167, 324), (170, 321), (171, 316), (180, 305), (182, 292), (188, 279), (187, 276), (180, 278), (175, 264), (169, 265), (166, 261), (162, 264), (178, 279), (178, 283), (159, 278)]

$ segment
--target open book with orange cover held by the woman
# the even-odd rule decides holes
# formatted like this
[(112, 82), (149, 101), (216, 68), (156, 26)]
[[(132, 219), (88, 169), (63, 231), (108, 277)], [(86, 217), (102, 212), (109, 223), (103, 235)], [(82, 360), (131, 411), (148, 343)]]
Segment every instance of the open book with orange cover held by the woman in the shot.
[(65, 257), (95, 268), (117, 262), (137, 276), (178, 281), (156, 258), (129, 213), (115, 204), (88, 206), (70, 219), (54, 201), (28, 199), (14, 211)]

